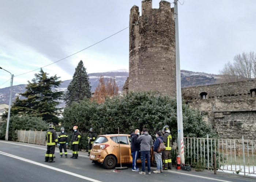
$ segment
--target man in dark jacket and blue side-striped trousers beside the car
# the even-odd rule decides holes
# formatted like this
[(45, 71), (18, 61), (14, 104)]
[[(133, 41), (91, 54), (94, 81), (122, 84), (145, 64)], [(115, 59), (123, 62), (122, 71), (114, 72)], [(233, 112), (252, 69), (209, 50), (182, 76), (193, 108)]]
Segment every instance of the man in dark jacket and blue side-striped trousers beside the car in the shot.
[(140, 143), (138, 142), (138, 137), (140, 135), (140, 130), (136, 129), (134, 133), (131, 134), (131, 152), (132, 152), (132, 171), (139, 171), (139, 168), (136, 165), (139, 151), (140, 151)]

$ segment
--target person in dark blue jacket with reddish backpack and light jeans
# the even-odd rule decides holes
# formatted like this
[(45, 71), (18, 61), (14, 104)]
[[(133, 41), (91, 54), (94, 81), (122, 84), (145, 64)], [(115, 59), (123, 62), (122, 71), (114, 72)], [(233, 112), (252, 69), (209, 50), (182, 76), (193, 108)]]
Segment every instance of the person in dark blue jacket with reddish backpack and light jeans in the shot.
[(162, 151), (161, 152), (157, 151), (160, 143), (163, 143), (162, 132), (158, 131), (155, 134), (155, 137), (157, 139), (155, 140), (155, 143), (154, 143), (154, 155), (155, 155), (155, 162), (157, 162), (157, 170), (153, 171), (153, 173), (162, 173), (163, 172)]

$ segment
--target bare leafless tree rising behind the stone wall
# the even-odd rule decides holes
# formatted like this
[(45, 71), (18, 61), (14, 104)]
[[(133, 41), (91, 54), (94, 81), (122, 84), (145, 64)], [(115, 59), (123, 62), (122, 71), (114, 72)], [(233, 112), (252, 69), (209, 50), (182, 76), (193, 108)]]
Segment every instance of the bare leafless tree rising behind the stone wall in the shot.
[(222, 83), (239, 82), (250, 80), (256, 77), (256, 54), (249, 52), (237, 54), (233, 63), (226, 63), (224, 68), (219, 71)]

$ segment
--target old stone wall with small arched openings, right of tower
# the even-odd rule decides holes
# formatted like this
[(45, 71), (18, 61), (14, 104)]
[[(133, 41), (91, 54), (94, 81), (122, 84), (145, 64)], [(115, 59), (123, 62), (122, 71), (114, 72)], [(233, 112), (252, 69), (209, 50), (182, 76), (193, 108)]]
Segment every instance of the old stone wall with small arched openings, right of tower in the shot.
[[(182, 97), (202, 111), (222, 138), (256, 139), (256, 80), (182, 88)], [(206, 99), (200, 93), (205, 92)]]

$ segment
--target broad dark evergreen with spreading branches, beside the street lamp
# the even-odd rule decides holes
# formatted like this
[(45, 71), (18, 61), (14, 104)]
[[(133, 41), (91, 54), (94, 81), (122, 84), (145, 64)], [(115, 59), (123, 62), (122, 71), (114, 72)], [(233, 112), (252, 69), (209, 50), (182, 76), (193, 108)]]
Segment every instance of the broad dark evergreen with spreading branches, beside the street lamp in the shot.
[(60, 77), (47, 76), (41, 68), (39, 74), (35, 74), (32, 82), (28, 81), (26, 91), (23, 94), (26, 99), (20, 100), (16, 98), (13, 106), (11, 107), (11, 115), (24, 115), (41, 117), (48, 123), (59, 123), (57, 111), (59, 108), (58, 99), (62, 98), (63, 92), (53, 90), (60, 86)]

